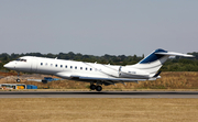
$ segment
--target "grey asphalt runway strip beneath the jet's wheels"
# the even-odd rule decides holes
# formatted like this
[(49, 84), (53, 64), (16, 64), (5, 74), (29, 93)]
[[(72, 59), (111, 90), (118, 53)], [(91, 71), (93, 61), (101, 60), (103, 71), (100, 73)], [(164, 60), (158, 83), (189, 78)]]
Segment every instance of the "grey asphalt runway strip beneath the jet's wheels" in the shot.
[(198, 98), (198, 91), (0, 91), (0, 98)]

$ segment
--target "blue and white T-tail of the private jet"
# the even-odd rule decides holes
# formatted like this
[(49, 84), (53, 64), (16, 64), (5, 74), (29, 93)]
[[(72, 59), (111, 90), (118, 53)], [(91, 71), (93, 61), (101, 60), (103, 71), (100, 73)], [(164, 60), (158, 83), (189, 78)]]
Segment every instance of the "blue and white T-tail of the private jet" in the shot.
[(131, 65), (129, 67), (144, 70), (150, 74), (150, 77), (154, 78), (161, 74), (161, 71), (157, 73), (157, 70), (169, 58), (169, 56), (194, 57), (193, 55), (175, 53), (175, 52), (167, 52), (167, 51), (158, 48), (158, 49), (152, 52), (148, 56), (146, 56), (144, 59), (142, 59), (138, 64)]

